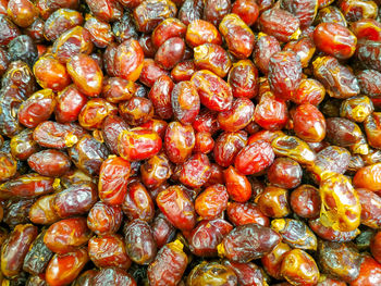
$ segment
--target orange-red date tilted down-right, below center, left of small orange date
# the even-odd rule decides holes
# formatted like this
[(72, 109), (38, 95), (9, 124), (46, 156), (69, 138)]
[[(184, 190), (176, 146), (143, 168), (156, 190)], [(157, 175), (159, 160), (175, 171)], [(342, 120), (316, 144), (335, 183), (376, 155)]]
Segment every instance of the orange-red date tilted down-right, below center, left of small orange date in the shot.
[(195, 227), (195, 207), (182, 187), (167, 188), (158, 195), (156, 202), (160, 211), (176, 228), (192, 231)]

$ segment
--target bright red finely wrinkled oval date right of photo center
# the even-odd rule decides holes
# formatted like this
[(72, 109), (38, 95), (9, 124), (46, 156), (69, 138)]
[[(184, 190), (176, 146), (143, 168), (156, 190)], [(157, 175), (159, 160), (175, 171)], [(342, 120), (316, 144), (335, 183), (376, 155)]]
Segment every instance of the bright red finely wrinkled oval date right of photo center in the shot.
[(270, 144), (259, 140), (243, 148), (235, 157), (234, 165), (244, 175), (251, 175), (271, 165), (275, 154)]

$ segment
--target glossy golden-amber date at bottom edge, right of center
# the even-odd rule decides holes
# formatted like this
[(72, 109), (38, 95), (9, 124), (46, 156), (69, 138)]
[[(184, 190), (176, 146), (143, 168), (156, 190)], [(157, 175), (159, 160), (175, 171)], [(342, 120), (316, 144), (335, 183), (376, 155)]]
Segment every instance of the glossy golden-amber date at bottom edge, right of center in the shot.
[(293, 249), (284, 256), (281, 273), (292, 285), (300, 286), (316, 285), (320, 277), (314, 258), (300, 249)]

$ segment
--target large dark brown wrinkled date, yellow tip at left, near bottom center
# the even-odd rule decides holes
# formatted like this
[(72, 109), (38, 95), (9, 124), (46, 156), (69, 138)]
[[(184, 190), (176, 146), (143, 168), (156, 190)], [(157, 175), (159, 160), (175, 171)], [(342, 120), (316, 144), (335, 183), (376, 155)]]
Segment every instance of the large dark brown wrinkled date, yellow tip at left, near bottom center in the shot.
[(231, 261), (248, 262), (268, 254), (281, 236), (269, 227), (246, 224), (234, 228), (218, 246), (220, 257)]

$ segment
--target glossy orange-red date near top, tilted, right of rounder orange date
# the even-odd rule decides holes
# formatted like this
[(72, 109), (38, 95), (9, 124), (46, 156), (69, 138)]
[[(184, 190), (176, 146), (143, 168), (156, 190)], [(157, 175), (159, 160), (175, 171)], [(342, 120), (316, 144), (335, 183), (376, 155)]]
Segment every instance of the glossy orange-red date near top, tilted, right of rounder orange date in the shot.
[(238, 15), (225, 15), (219, 25), (219, 30), (225, 38), (229, 51), (237, 59), (246, 59), (251, 54), (254, 34)]

